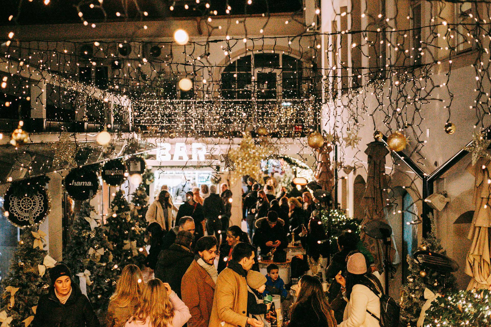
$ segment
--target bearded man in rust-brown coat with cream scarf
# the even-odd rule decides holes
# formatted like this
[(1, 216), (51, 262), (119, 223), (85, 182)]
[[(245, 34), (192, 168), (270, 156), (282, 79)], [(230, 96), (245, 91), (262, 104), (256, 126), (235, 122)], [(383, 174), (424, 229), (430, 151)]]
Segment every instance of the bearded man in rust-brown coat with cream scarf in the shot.
[(200, 238), (195, 251), (196, 256), (182, 279), (181, 295), (191, 313), (188, 327), (208, 327), (218, 278), (215, 268), (217, 239), (215, 236)]

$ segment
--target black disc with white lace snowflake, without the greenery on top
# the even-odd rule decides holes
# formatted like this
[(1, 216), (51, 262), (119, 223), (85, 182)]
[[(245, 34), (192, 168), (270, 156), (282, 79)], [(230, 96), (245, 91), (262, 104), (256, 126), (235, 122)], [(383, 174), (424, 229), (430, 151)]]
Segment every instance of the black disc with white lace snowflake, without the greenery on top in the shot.
[(51, 209), (48, 191), (39, 187), (31, 194), (18, 195), (16, 187), (12, 184), (4, 195), (3, 216), (19, 228), (42, 223)]

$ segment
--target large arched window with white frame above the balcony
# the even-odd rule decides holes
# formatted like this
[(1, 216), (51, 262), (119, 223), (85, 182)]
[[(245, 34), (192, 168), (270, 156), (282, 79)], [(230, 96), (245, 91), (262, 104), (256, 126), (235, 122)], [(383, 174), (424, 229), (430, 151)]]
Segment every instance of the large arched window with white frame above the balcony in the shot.
[(295, 99), (300, 97), (302, 63), (287, 54), (248, 54), (221, 74), (224, 99)]

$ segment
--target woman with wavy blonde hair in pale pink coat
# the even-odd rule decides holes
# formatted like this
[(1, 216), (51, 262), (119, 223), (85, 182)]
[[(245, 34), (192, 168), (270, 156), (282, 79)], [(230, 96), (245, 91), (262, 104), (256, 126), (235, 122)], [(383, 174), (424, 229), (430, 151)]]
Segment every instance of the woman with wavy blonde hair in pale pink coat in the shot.
[(150, 280), (143, 289), (135, 314), (125, 327), (182, 327), (191, 318), (184, 302), (160, 279)]

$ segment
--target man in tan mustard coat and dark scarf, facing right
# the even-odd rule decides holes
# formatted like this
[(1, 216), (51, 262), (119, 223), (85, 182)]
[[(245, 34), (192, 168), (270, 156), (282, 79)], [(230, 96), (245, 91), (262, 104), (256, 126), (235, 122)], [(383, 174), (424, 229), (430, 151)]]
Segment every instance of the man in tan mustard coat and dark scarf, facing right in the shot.
[(209, 327), (263, 327), (247, 318), (247, 272), (254, 264), (254, 247), (240, 242), (232, 250), (232, 259), (217, 279)]

